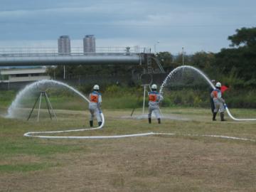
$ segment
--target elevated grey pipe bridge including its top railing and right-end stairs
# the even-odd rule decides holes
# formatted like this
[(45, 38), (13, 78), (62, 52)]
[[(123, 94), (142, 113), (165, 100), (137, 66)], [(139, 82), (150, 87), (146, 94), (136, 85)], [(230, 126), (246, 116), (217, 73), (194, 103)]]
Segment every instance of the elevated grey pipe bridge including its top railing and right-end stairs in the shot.
[(57, 48), (0, 48), (0, 67), (29, 65), (144, 65), (148, 73), (164, 73), (146, 48), (96, 48), (94, 53), (83, 53), (82, 48), (72, 48), (70, 53), (58, 53)]

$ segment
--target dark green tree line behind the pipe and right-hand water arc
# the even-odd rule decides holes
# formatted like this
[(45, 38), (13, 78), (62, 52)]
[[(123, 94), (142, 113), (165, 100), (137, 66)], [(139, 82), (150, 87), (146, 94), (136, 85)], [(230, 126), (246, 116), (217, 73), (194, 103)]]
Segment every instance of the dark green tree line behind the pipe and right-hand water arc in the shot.
[[(172, 55), (170, 52), (159, 52), (160, 60), (166, 72), (185, 63), (203, 70), (210, 78), (225, 82), (233, 87), (256, 87), (256, 28), (240, 28), (228, 36), (229, 48), (219, 53), (200, 51), (193, 55)], [(127, 65), (66, 65), (68, 78), (82, 78), (84, 75), (132, 75), (138, 66)], [(53, 77), (63, 77), (63, 67), (49, 68)]]

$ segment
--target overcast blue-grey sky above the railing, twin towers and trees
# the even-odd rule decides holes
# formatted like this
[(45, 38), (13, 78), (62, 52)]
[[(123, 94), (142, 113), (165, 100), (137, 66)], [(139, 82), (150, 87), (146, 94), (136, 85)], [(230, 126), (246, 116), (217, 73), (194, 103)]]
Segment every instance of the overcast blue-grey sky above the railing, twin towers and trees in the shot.
[(255, 10), (255, 0), (0, 0), (0, 48), (57, 47), (62, 35), (76, 47), (93, 34), (97, 47), (216, 53), (256, 26)]

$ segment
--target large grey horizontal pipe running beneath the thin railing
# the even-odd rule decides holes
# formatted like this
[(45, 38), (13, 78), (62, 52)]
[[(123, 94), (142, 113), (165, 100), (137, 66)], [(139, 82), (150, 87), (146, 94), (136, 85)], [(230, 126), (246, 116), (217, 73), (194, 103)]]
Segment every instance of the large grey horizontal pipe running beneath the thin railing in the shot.
[(0, 66), (19, 65), (141, 65), (144, 57), (138, 53), (31, 53), (1, 54)]

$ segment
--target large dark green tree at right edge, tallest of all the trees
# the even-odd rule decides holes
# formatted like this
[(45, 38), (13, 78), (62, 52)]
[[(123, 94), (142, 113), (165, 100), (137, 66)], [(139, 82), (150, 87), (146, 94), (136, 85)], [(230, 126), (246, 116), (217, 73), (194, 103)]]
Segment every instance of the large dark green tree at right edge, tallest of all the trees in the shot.
[(256, 28), (241, 28), (229, 36), (231, 48), (223, 48), (215, 55), (215, 65), (220, 72), (229, 75), (232, 70), (237, 77), (256, 84)]

